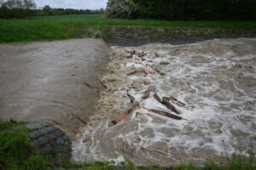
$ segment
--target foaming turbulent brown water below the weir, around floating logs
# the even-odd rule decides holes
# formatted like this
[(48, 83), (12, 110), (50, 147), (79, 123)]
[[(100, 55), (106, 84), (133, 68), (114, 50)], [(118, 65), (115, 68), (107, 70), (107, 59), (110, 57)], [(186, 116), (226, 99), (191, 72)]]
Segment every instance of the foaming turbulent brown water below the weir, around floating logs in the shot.
[[(74, 161), (202, 164), (256, 145), (256, 39), (113, 47), (112, 58), (98, 113), (73, 142)], [(140, 106), (110, 126), (129, 106), (126, 90)], [(183, 102), (171, 101), (183, 120), (148, 111), (168, 111), (154, 93)]]

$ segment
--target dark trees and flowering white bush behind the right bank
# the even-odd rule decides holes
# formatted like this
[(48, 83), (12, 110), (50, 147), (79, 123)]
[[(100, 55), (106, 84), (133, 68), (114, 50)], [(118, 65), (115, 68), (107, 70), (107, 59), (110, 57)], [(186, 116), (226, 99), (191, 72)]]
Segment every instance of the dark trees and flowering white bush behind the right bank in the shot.
[(256, 20), (256, 0), (108, 0), (110, 18)]

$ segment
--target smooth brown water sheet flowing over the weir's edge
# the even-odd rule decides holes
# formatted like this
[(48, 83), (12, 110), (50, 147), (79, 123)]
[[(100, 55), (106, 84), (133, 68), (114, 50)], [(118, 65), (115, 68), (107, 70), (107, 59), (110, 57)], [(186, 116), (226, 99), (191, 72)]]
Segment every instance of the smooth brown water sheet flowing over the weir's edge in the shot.
[(109, 51), (99, 39), (0, 45), (0, 118), (53, 122), (73, 136), (95, 112)]

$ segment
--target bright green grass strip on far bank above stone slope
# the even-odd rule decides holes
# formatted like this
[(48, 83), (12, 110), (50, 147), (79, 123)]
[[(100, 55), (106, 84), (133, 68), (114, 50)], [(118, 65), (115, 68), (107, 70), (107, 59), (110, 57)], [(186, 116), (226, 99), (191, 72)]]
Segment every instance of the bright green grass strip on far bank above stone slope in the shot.
[(95, 26), (177, 26), (222, 29), (256, 29), (251, 21), (166, 21), (106, 19), (102, 14), (34, 17), (22, 20), (0, 20), (0, 43), (32, 42), (75, 38), (86, 35)]

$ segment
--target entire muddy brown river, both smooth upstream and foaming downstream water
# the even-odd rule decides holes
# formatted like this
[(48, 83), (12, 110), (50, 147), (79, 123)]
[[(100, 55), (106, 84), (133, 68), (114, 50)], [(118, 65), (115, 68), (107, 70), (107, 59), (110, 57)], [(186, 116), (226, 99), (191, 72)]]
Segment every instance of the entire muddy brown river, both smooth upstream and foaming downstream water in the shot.
[[(0, 80), (0, 117), (53, 122), (76, 135), (74, 161), (202, 165), (256, 145), (256, 39), (112, 49), (98, 39), (0, 45)], [(186, 104), (172, 103), (183, 120), (146, 110), (168, 111), (153, 91), (142, 99), (148, 88)], [(140, 106), (109, 126), (129, 106), (126, 90)]]

